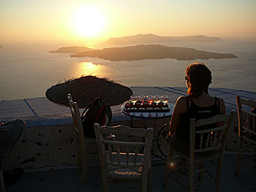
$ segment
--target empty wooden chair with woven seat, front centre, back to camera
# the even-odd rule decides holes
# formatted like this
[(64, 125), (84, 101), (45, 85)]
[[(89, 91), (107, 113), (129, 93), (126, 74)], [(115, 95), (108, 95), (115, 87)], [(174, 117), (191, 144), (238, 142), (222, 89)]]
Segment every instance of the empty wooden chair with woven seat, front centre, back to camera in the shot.
[[(110, 188), (146, 191), (147, 185), (148, 191), (152, 191), (151, 144), (154, 129), (99, 126), (95, 123), (94, 131), (102, 168), (103, 191), (110, 191)], [(105, 134), (112, 134), (116, 139), (105, 139)], [(124, 141), (124, 136), (129, 136), (128, 141)], [(131, 141), (132, 137), (140, 137), (140, 141)], [(128, 186), (125, 185), (127, 183)]]

